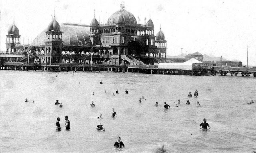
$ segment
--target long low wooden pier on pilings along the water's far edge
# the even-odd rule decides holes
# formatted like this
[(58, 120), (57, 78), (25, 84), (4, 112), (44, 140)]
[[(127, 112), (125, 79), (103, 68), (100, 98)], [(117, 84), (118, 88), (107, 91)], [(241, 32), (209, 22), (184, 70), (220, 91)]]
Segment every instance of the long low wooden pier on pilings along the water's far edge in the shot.
[(207, 67), (204, 65), (193, 66), (192, 70), (186, 69), (159, 69), (158, 65), (99, 65), (99, 64), (72, 64), (72, 63), (21, 63), (4, 62), (2, 70), (16, 71), (80, 71), (80, 72), (114, 72), (114, 73), (144, 73), (162, 75), (241, 75), (256, 77), (256, 68), (245, 67)]

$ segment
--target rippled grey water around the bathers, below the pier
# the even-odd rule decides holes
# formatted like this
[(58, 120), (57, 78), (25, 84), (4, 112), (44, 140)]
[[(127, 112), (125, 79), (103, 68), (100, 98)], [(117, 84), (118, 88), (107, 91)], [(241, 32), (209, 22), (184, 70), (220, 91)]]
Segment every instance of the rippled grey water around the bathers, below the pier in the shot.
[[(0, 152), (155, 153), (164, 145), (168, 153), (251, 153), (256, 104), (246, 103), (256, 102), (255, 82), (231, 76), (0, 71)], [(188, 98), (195, 89), (199, 97)], [(142, 95), (146, 99), (139, 104)], [(62, 108), (54, 104), (57, 99)], [(181, 104), (174, 107), (178, 99)], [(96, 118), (99, 114), (103, 119)], [(66, 115), (70, 131), (64, 128)], [(204, 118), (208, 131), (198, 128)], [(96, 130), (100, 123), (105, 132)], [(114, 148), (118, 136), (124, 149)]]

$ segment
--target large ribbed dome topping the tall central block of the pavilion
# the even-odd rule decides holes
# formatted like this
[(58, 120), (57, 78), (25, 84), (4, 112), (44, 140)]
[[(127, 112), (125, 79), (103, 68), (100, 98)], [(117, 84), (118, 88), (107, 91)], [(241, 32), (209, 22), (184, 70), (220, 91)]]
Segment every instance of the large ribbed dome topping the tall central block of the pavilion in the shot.
[(118, 23), (119, 16), (124, 18), (125, 24), (137, 24), (136, 18), (128, 11), (121, 8), (121, 10), (115, 12), (108, 18), (107, 24), (116, 24)]

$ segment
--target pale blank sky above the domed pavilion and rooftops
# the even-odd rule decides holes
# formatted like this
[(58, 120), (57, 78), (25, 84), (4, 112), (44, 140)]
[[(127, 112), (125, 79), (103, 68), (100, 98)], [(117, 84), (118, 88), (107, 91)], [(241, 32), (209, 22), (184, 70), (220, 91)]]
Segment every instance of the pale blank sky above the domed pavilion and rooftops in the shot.
[[(256, 1), (254, 0), (0, 0), (0, 49), (6, 51), (8, 28), (15, 21), (24, 43), (48, 27), (54, 16), (61, 23), (106, 23), (124, 1), (140, 24), (149, 18), (154, 34), (167, 41), (167, 55), (207, 54), (256, 65)], [(29, 40), (29, 41), (28, 41)], [(21, 42), (22, 43), (22, 42)], [(248, 47), (247, 47), (248, 46)]]

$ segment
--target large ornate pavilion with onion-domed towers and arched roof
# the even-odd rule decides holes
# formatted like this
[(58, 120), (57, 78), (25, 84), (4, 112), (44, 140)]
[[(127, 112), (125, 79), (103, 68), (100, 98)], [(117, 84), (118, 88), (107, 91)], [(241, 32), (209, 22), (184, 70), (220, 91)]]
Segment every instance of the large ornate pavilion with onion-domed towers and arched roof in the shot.
[[(148, 65), (166, 58), (164, 33), (155, 34), (151, 18), (138, 24), (124, 4), (104, 24), (94, 17), (90, 25), (59, 24), (54, 16), (49, 26), (38, 34), (31, 46), (20, 44), (14, 24), (6, 35), (5, 55), (22, 55), (4, 61), (40, 63), (98, 63), (105, 65)], [(28, 60), (28, 55), (30, 59)]]

